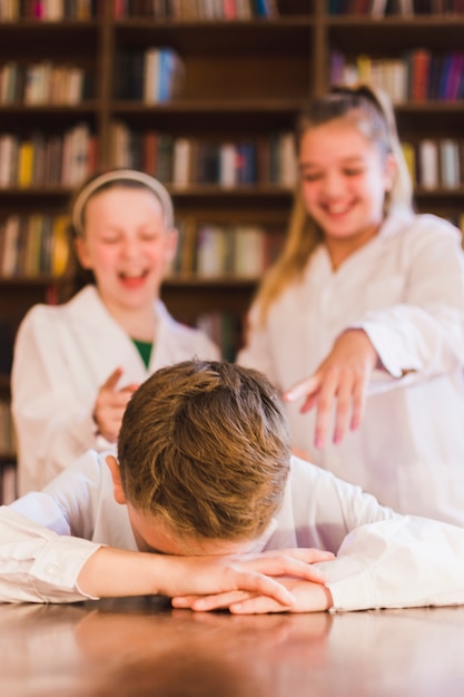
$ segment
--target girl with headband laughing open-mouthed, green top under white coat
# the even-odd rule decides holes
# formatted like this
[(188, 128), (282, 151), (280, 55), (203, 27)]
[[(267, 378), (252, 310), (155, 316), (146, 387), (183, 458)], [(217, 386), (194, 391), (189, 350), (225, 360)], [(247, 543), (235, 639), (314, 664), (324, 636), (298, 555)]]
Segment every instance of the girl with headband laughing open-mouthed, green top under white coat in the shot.
[(87, 283), (63, 304), (33, 306), (16, 338), (20, 494), (41, 489), (89, 448), (115, 448), (128, 400), (157, 369), (219, 357), (159, 297), (177, 246), (162, 184), (131, 169), (99, 174), (77, 193), (71, 222)]

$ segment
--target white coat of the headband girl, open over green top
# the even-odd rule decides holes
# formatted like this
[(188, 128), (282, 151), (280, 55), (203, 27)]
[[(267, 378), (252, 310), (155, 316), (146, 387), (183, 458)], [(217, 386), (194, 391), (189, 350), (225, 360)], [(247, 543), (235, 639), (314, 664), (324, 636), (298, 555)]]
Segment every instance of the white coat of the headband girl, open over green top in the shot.
[(89, 448), (108, 449), (91, 414), (99, 387), (118, 366), (124, 369), (122, 387), (179, 361), (219, 359), (203, 332), (172, 320), (160, 301), (154, 313), (156, 340), (147, 370), (92, 285), (66, 304), (36, 305), (28, 312), (17, 334), (11, 375), (20, 494), (40, 490)]

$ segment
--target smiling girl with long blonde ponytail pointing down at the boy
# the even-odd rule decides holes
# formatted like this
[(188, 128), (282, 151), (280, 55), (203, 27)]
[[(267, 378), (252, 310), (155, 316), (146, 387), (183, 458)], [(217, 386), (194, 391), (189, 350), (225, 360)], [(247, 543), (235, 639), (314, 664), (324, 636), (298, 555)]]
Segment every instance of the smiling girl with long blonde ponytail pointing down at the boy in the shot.
[(285, 249), (238, 362), (282, 390), (295, 450), (403, 513), (464, 526), (464, 255), (413, 210), (392, 106), (333, 88), (296, 132)]

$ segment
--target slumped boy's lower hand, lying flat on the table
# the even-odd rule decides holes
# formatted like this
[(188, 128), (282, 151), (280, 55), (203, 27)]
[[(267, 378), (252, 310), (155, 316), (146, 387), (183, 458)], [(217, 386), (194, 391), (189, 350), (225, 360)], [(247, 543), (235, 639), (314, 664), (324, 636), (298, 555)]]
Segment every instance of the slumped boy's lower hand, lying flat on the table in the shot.
[(279, 583), (295, 598), (292, 606), (279, 602), (275, 597), (253, 595), (246, 591), (230, 591), (204, 598), (185, 596), (172, 598), (171, 603), (175, 608), (188, 608), (197, 612), (228, 609), (234, 615), (320, 612), (328, 610), (334, 605), (330, 591), (319, 582), (285, 578), (279, 579)]

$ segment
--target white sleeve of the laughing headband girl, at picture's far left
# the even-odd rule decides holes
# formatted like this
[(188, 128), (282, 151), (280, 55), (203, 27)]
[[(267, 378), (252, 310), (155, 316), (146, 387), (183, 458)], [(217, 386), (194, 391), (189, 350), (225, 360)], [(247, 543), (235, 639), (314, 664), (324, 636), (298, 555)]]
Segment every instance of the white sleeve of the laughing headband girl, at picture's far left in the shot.
[(66, 350), (57, 345), (53, 310), (33, 307), (16, 338), (11, 392), (20, 493), (41, 489), (97, 444), (91, 405), (82, 405), (77, 397)]

